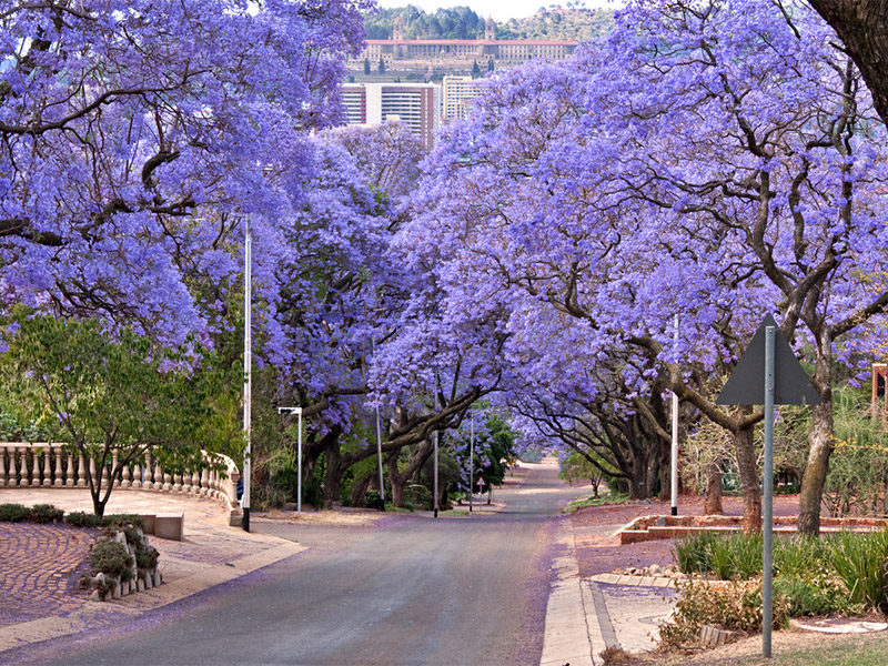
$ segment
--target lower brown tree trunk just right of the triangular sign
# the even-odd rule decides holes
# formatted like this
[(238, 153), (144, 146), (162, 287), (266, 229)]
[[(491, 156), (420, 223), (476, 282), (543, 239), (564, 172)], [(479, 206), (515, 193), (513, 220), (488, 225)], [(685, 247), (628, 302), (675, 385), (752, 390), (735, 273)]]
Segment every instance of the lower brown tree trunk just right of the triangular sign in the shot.
[[(821, 394), (823, 400), (823, 394)], [(808, 462), (801, 476), (798, 496), (798, 533), (820, 533), (820, 501), (833, 453), (833, 400), (811, 407), (811, 432), (808, 435)]]

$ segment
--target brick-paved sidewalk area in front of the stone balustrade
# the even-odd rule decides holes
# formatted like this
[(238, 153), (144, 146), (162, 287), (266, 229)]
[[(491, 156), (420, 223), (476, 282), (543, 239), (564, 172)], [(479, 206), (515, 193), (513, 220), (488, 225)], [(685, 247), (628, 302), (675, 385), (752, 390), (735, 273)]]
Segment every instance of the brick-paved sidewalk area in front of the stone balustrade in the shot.
[[(53, 504), (92, 513), (82, 488), (3, 488), (0, 503)], [(160, 608), (305, 549), (274, 536), (228, 526), (228, 511), (208, 498), (115, 490), (114, 513), (182, 513), (184, 539), (150, 536), (160, 552), (160, 587), (110, 602), (71, 593), (92, 537), (62, 525), (0, 523), (0, 654), (109, 625)]]

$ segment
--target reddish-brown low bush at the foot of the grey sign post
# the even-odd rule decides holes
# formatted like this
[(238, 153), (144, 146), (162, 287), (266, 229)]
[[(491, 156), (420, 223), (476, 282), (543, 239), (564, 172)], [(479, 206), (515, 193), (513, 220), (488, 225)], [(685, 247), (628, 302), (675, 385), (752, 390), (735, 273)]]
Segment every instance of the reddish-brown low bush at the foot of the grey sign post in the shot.
[[(712, 582), (688, 579), (678, 583), (680, 598), (673, 615), (660, 627), (666, 645), (695, 643), (703, 625), (753, 633), (761, 629), (761, 581)], [(774, 626), (786, 624), (787, 605), (775, 598)]]

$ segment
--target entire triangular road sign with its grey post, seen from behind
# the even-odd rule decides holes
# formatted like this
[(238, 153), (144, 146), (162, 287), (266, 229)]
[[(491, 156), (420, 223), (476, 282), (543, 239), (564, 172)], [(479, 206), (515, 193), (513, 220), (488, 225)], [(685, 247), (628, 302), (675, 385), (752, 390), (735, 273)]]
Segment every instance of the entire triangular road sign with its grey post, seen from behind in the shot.
[(765, 405), (763, 470), (761, 654), (770, 658), (774, 613), (774, 405), (816, 405), (820, 396), (769, 314), (756, 331), (716, 401), (719, 405)]

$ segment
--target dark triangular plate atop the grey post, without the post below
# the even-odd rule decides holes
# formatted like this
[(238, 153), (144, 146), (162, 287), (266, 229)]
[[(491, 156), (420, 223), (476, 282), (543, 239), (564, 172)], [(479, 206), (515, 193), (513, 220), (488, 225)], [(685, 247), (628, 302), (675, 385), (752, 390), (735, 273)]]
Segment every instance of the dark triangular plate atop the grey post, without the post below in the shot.
[[(765, 404), (765, 329), (777, 326), (771, 315), (756, 331), (749, 346), (730, 373), (728, 383), (716, 400), (719, 405)], [(774, 336), (774, 404), (818, 405), (820, 396), (793, 353), (793, 347), (777, 329)]]

